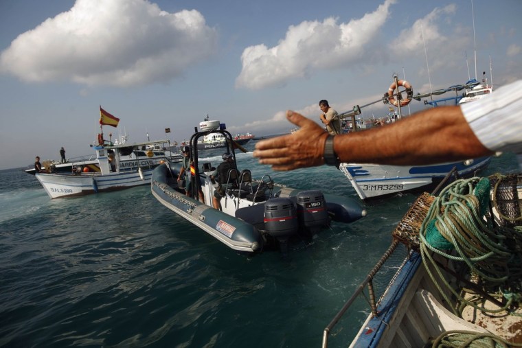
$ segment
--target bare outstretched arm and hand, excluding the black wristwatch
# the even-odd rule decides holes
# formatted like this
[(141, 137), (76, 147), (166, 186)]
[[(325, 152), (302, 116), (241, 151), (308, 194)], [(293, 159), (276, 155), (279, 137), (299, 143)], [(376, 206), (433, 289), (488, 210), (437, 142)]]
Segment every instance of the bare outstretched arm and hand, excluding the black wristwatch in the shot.
[[(256, 144), (253, 156), (273, 170), (293, 170), (324, 163), (328, 133), (314, 121), (287, 111), (300, 129), (291, 135)], [(334, 150), (341, 162), (422, 165), (493, 154), (475, 137), (458, 106), (440, 106), (387, 126), (336, 135)]]

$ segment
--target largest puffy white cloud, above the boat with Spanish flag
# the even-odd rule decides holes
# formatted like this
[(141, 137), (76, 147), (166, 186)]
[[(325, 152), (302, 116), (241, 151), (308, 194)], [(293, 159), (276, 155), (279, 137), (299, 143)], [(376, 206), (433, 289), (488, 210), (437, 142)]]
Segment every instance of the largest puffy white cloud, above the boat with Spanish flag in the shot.
[(88, 86), (168, 82), (209, 58), (216, 43), (216, 31), (196, 10), (168, 13), (143, 0), (77, 0), (13, 40), (0, 56), (0, 72), (27, 82)]

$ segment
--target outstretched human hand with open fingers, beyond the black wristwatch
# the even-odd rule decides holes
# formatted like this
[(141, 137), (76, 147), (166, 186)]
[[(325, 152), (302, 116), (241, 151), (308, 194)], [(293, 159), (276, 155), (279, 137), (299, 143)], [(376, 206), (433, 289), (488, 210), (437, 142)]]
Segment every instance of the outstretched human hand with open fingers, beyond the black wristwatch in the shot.
[(299, 113), (286, 111), (286, 118), (299, 127), (291, 135), (259, 141), (254, 157), (273, 170), (294, 170), (324, 164), (324, 143), (328, 133)]

